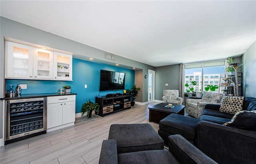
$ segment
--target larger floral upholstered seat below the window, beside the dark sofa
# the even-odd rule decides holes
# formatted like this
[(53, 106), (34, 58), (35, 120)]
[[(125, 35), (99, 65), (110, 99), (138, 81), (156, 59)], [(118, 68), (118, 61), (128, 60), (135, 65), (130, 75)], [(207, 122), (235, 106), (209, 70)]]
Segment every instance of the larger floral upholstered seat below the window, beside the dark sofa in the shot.
[(206, 104), (221, 105), (224, 97), (225, 94), (222, 93), (204, 92), (202, 99), (186, 99), (186, 112), (200, 119)]

